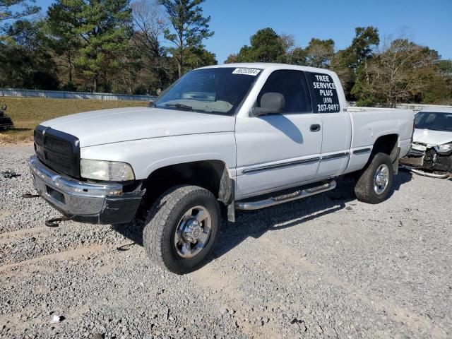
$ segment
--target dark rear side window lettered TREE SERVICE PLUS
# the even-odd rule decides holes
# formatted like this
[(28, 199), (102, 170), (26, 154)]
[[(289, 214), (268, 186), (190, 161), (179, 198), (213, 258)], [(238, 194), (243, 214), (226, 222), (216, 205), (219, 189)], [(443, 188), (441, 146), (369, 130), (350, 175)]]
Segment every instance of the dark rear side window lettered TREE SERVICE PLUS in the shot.
[(340, 112), (338, 90), (333, 78), (325, 73), (305, 72), (314, 113)]

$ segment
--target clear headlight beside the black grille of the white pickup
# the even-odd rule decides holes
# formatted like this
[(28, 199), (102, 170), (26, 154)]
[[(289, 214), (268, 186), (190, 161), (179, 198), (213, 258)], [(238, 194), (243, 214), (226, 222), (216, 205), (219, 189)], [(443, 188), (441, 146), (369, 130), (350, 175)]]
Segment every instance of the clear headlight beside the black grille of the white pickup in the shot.
[(81, 159), (80, 172), (81, 177), (85, 179), (107, 182), (125, 182), (135, 179), (131, 165), (125, 162)]

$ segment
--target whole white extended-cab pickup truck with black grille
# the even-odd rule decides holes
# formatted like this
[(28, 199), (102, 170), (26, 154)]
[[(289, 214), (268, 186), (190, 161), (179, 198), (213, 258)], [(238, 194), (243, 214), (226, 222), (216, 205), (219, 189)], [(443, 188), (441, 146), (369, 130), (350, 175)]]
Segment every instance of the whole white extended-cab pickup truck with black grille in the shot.
[(143, 245), (174, 273), (196, 269), (221, 211), (312, 196), (356, 172), (360, 201), (380, 203), (412, 143), (410, 110), (347, 111), (338, 76), (285, 64), (196, 69), (152, 107), (45, 121), (29, 160), (42, 198), (67, 218), (145, 217)]

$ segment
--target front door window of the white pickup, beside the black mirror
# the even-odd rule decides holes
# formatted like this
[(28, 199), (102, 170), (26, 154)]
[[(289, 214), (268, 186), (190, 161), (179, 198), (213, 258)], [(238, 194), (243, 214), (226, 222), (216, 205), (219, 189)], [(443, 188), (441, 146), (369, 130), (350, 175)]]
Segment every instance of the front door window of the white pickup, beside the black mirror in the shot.
[(285, 108), (282, 113), (310, 113), (311, 100), (306, 78), (302, 71), (274, 71), (268, 77), (257, 97), (258, 107), (265, 93), (281, 93), (284, 95)]

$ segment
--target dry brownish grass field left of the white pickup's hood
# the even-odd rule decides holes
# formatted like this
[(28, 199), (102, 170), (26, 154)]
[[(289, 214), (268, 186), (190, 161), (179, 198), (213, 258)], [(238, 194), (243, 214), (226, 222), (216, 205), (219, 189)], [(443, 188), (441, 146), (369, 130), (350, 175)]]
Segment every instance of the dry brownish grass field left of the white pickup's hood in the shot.
[(144, 107), (145, 101), (44, 99), (40, 97), (0, 97), (0, 105), (8, 105), (6, 114), (14, 122), (14, 129), (0, 132), (0, 144), (32, 141), (37, 124), (64, 115), (119, 107)]

